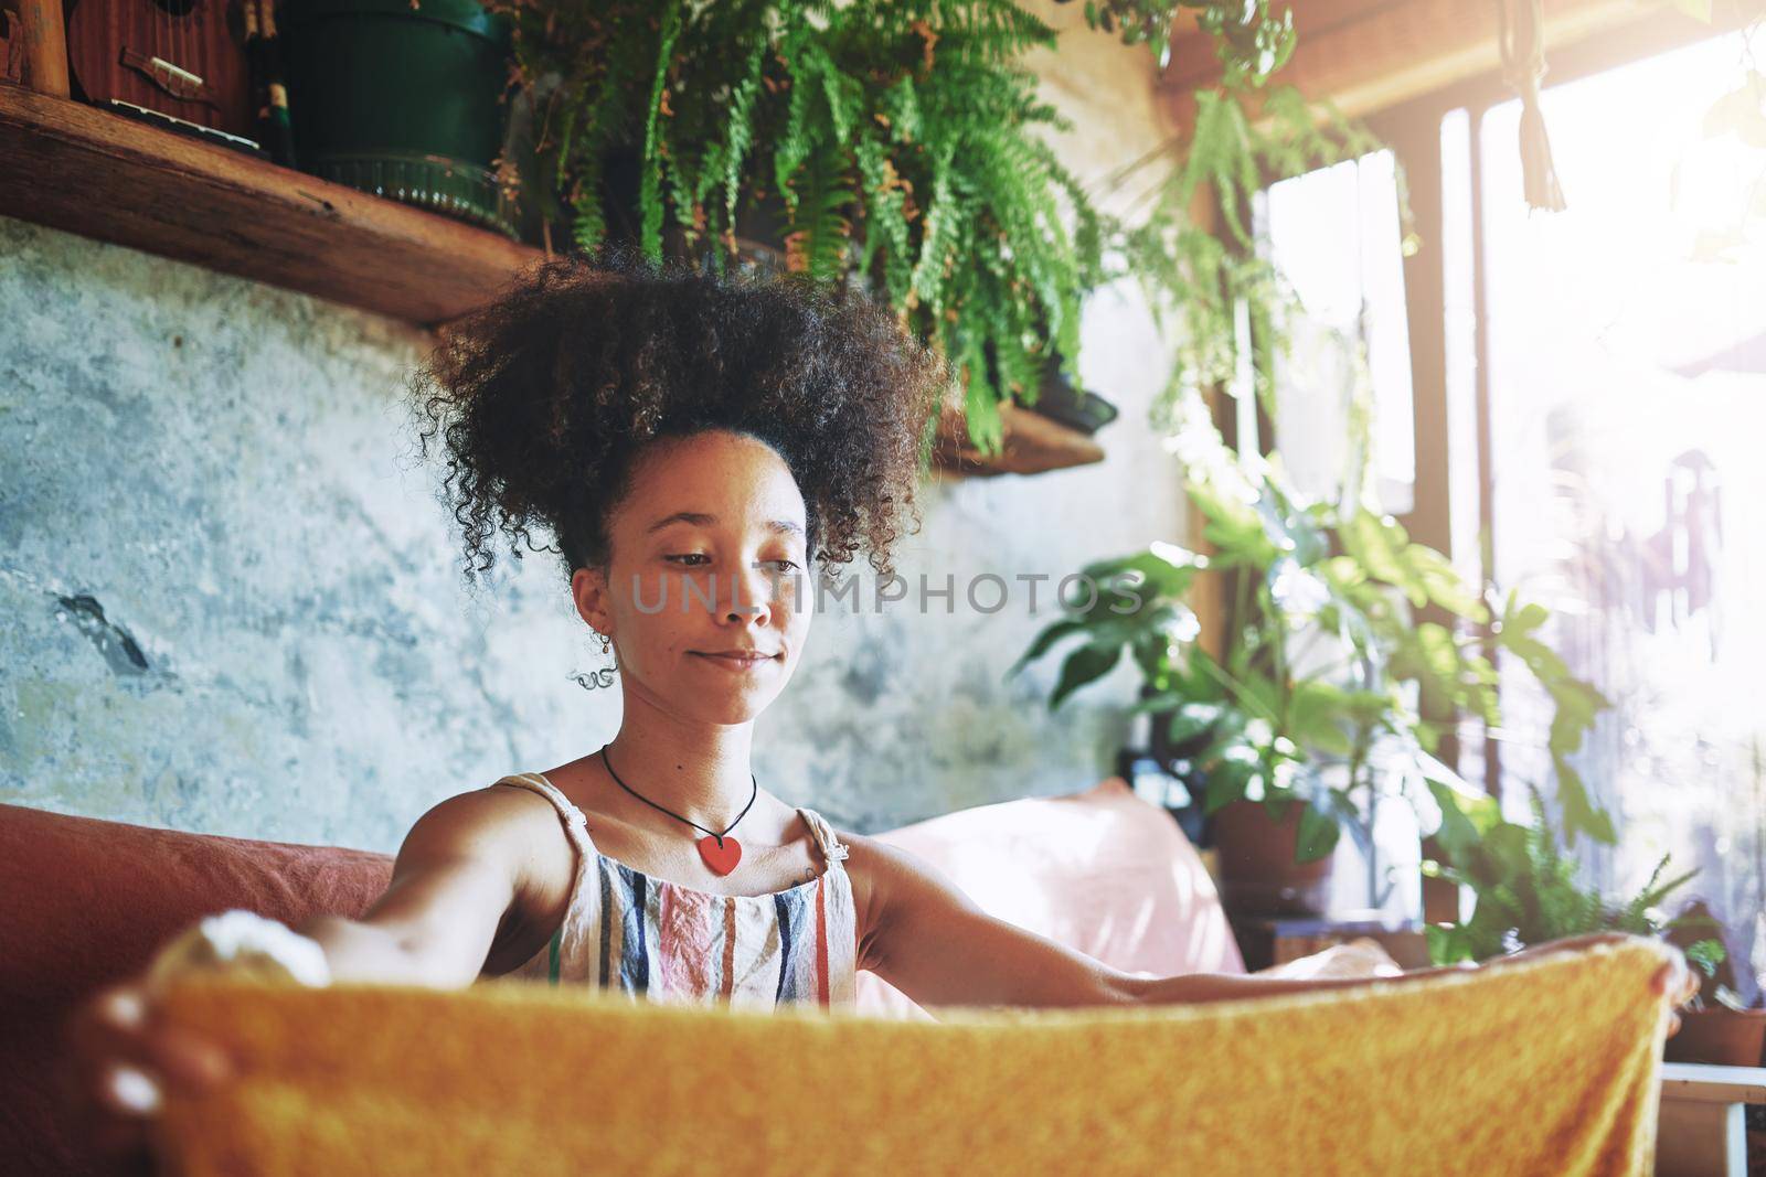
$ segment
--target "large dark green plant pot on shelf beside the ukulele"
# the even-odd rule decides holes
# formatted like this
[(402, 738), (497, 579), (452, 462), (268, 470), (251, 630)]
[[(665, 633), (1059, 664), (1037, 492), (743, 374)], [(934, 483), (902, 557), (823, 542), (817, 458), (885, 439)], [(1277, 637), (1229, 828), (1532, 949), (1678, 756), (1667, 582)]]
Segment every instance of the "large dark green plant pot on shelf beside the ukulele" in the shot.
[(302, 171), (516, 236), (503, 148), (510, 26), (472, 0), (283, 0)]

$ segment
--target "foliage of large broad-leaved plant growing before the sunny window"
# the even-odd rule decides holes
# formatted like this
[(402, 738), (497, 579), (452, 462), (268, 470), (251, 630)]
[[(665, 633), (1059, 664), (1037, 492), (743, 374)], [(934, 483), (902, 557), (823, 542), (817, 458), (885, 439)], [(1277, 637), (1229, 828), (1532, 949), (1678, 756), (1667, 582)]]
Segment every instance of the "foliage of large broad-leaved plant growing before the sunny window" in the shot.
[[(1054, 709), (1127, 655), (1143, 679), (1136, 709), (1164, 725), (1173, 768), (1204, 810), (1250, 799), (1279, 817), (1300, 801), (1296, 858), (1312, 861), (1344, 828), (1369, 845), (1383, 796), (1432, 817), (1425, 782), (1468, 789), (1434, 750), (1453, 715), (1501, 722), (1496, 669), (1476, 632), (1487, 626), (1556, 702), (1547, 743), (1568, 836), (1612, 842), (1609, 815), (1568, 759), (1609, 704), (1540, 641), (1545, 611), (1478, 591), (1358, 494), (1305, 499), (1277, 464), (1233, 454), (1192, 409), (1174, 448), (1211, 554), (1155, 544), (1088, 565), (1084, 575), (1106, 591), (1063, 609), (1012, 674), (1075, 639), (1049, 693)], [(1201, 577), (1220, 577), (1227, 600), (1220, 656), (1196, 641), (1190, 598)]]

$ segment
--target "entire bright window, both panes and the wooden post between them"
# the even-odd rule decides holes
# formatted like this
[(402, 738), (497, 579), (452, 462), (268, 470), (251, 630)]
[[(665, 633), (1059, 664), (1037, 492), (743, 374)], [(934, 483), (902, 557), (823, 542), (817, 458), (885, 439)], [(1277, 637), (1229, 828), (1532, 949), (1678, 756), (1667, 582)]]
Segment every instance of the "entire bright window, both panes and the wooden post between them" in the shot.
[[(1376, 120), (1393, 154), (1273, 184), (1266, 228), (1309, 316), (1367, 348), (1386, 510), (1545, 603), (1547, 639), (1614, 702), (1575, 757), (1621, 836), (1579, 842), (1589, 879), (1632, 893), (1665, 852), (1697, 866), (1672, 902), (1709, 902), (1752, 960), (1738, 972), (1759, 974), (1766, 78), (1724, 35), (1604, 62), (1549, 86), (1543, 113), (1566, 212), (1526, 210), (1519, 102), (1480, 83)], [(1423, 245), (1409, 261), (1393, 159)], [(1328, 494), (1340, 394), (1309, 388), (1332, 381), (1305, 360), (1277, 374), (1275, 434)], [(1466, 723), (1457, 755), (1521, 817), (1526, 783), (1552, 796), (1551, 709), (1499, 669), (1505, 731)]]

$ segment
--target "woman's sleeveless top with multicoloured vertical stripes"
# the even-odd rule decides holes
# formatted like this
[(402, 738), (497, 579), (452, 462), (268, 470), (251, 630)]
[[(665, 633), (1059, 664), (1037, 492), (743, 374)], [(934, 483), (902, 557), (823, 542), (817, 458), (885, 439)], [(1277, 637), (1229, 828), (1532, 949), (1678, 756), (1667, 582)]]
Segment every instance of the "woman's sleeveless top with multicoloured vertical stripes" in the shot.
[(717, 895), (653, 879), (597, 851), (583, 810), (544, 773), (496, 783), (551, 801), (576, 847), (563, 923), (510, 976), (669, 1004), (855, 1008), (858, 921), (842, 865), (848, 847), (821, 813), (796, 810), (816, 838), (821, 875), (770, 895)]

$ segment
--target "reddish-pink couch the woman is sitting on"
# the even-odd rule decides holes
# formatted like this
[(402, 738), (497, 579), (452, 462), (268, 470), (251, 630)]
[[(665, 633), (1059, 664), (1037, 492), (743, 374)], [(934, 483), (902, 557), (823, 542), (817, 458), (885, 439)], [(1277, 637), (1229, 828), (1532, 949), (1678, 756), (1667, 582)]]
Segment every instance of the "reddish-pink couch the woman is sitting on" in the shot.
[[(918, 854), (989, 914), (1143, 976), (1243, 972), (1215, 888), (1176, 822), (1121, 778), (984, 805), (879, 840)], [(297, 925), (358, 916), (392, 856), (150, 829), (0, 805), (0, 1158), (9, 1177), (108, 1173), (81, 1145), (69, 1015), (138, 974), (201, 916)], [(858, 1009), (929, 1018), (874, 974)]]

